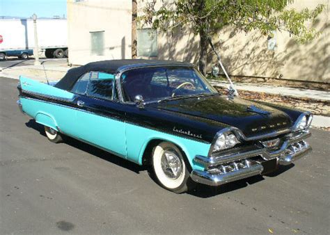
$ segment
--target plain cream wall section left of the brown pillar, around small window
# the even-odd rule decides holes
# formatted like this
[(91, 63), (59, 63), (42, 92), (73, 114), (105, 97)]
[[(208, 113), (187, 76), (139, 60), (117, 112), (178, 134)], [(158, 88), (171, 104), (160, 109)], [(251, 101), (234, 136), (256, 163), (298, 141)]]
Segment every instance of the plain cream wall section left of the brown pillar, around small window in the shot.
[[(69, 63), (131, 58), (130, 0), (68, 0)], [(91, 31), (104, 31), (104, 55), (91, 55)]]

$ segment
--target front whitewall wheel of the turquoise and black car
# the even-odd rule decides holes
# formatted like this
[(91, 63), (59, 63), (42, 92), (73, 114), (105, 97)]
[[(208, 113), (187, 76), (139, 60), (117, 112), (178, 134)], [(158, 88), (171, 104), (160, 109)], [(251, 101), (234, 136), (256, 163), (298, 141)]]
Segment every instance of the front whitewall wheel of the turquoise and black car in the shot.
[(152, 168), (158, 183), (174, 193), (188, 191), (189, 171), (180, 149), (173, 143), (162, 142), (152, 153)]

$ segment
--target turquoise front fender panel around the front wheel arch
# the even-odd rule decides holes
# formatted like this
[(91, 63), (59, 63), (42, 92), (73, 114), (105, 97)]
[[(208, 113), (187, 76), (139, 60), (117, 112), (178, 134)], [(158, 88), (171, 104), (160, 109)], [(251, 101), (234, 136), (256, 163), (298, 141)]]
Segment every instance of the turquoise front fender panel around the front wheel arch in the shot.
[(175, 143), (187, 155), (187, 159), (191, 167), (195, 170), (204, 170), (201, 165), (194, 163), (193, 159), (196, 155), (207, 156), (210, 149), (210, 144), (201, 143), (196, 140), (173, 136), (168, 133), (139, 127), (134, 124), (127, 124), (126, 126), (126, 142), (127, 142), (127, 159), (135, 163), (142, 164), (142, 156), (144, 149), (153, 139), (166, 140)]

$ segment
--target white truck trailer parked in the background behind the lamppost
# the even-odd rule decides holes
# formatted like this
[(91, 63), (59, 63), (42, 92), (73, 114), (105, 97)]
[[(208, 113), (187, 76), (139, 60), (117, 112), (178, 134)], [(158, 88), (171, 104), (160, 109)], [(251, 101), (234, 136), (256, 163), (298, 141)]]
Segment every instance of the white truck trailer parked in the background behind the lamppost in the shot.
[[(37, 19), (38, 46), (47, 58), (68, 57), (66, 19)], [(33, 19), (0, 19), (0, 60), (33, 55)]]

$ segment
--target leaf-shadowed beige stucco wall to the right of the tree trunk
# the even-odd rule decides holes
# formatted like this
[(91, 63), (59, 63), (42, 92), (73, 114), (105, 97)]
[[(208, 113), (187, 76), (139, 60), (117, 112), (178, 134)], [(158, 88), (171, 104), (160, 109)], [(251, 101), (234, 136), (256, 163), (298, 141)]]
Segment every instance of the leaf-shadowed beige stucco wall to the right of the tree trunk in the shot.
[[(327, 0), (299, 0), (291, 6), (297, 10), (315, 8)], [(267, 49), (267, 37), (258, 32), (235, 33), (225, 29), (219, 34), (217, 49), (230, 74), (276, 77), (304, 81), (330, 82), (329, 8), (322, 12), (313, 26), (322, 35), (312, 42), (298, 44), (288, 33), (276, 32), (276, 49)], [(215, 58), (213, 58), (215, 60)]]

